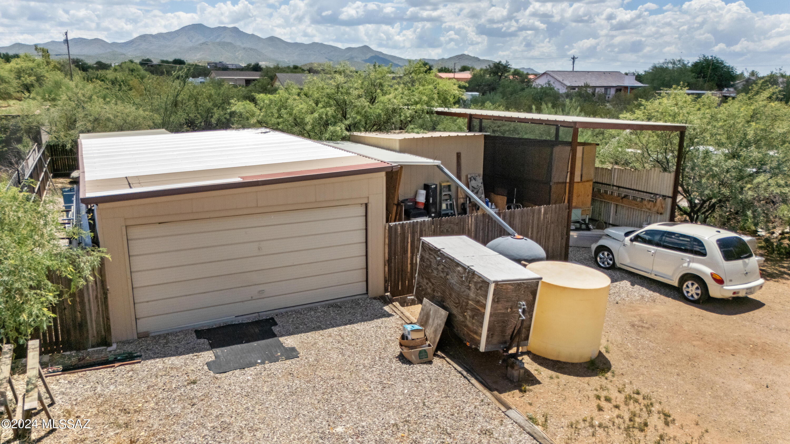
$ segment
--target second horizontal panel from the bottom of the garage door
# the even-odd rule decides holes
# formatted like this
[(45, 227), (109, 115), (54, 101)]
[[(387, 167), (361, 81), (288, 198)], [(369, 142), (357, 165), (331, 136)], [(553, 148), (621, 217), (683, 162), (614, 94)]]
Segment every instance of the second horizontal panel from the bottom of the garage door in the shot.
[[(364, 269), (356, 269), (341, 273), (319, 276), (301, 277), (292, 280), (280, 280), (270, 284), (252, 285), (250, 287), (232, 288), (219, 292), (201, 293), (197, 295), (179, 296), (170, 299), (159, 299), (151, 302), (137, 302), (135, 310), (137, 318), (147, 318), (157, 314), (208, 307), (219, 307), (228, 303), (239, 303), (255, 299), (276, 298), (298, 292), (309, 292), (326, 287), (335, 287), (348, 283), (363, 282), (366, 277)], [(264, 293), (260, 293), (264, 291)]]

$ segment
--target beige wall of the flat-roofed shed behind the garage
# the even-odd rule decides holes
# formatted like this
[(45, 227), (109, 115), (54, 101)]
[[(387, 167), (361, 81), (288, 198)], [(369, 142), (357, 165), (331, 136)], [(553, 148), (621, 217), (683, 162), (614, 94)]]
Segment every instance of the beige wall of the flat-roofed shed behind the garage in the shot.
[[(352, 134), (351, 141), (364, 145), (408, 152), (416, 156), (439, 160), (453, 175), (456, 174), (456, 153), (461, 152), (461, 181), (467, 183), (467, 175), (483, 174), (483, 134), (457, 136), (390, 137), (387, 134)], [(422, 137), (419, 137), (422, 136)], [(449, 179), (433, 165), (404, 165), (401, 177), (400, 198), (413, 198), (423, 183), (448, 182)], [(457, 196), (453, 186), (453, 195)]]

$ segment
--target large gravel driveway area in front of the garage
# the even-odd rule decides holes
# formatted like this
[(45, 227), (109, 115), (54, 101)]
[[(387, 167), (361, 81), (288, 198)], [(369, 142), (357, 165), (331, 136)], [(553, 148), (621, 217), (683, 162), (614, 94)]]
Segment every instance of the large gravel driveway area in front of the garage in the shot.
[[(534, 442), (443, 359), (400, 356), (402, 321), (375, 299), (275, 316), (300, 356), (213, 374), (208, 342), (183, 330), (118, 344), (141, 364), (51, 379), (55, 420), (89, 430), (38, 442)], [(36, 416), (43, 417), (43, 414)], [(0, 442), (10, 431), (3, 430)]]

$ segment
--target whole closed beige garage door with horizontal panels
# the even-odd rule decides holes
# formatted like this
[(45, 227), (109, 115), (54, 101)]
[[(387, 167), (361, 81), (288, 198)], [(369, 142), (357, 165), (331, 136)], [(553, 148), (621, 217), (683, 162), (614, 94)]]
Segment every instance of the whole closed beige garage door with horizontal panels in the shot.
[(126, 228), (138, 332), (366, 292), (365, 205)]

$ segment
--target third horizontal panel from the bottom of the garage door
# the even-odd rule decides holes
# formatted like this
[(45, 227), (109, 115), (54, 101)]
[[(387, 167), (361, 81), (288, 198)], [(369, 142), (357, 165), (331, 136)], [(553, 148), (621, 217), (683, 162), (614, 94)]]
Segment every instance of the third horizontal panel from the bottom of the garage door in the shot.
[(333, 259), (324, 262), (313, 262), (303, 265), (277, 267), (273, 269), (255, 270), (247, 273), (235, 273), (217, 277), (204, 277), (201, 279), (186, 280), (183, 282), (169, 282), (167, 284), (136, 287), (134, 300), (137, 303), (146, 303), (158, 299), (170, 299), (179, 296), (197, 295), (199, 293), (219, 292), (232, 288), (250, 287), (253, 285), (264, 288), (280, 280), (292, 280), (298, 277), (319, 276), (329, 273), (340, 273), (349, 270), (365, 269), (367, 258), (357, 256), (348, 260)]

